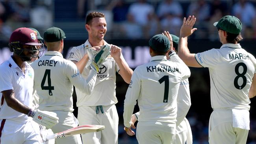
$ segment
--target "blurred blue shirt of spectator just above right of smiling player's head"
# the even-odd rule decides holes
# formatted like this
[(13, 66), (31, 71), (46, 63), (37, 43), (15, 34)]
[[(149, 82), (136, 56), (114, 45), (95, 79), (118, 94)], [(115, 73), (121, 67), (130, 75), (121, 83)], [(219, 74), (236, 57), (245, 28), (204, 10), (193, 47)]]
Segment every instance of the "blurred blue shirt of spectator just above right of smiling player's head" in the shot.
[(145, 26), (148, 24), (148, 15), (154, 13), (154, 7), (147, 4), (146, 0), (137, 0), (128, 9), (128, 15), (132, 15), (137, 24)]

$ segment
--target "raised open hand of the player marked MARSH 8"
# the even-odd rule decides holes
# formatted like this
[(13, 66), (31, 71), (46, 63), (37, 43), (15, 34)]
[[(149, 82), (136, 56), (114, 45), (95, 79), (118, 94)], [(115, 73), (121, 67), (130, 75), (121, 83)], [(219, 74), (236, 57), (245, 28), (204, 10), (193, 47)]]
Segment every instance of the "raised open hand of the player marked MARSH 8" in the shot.
[(180, 37), (188, 37), (191, 35), (197, 28), (193, 28), (197, 18), (195, 16), (189, 16), (186, 20), (186, 17), (183, 19), (183, 24), (180, 28)]

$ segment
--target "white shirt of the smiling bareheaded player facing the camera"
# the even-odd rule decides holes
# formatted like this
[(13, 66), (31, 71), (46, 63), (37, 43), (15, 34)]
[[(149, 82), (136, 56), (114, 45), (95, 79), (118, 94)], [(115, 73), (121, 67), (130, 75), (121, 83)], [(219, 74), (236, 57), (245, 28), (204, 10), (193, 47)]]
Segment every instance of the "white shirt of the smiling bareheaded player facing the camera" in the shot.
[[(104, 41), (104, 44), (107, 44)], [(91, 44), (87, 40), (84, 44), (80, 46), (73, 47), (69, 53), (70, 61), (80, 61), (83, 55), (85, 55), (86, 49), (91, 48)], [(97, 106), (97, 105), (111, 105), (117, 103), (117, 98), (115, 96), (115, 80), (116, 72), (119, 71), (119, 67), (113, 57), (110, 55), (106, 58), (106, 61), (101, 64), (99, 72), (97, 74), (96, 84), (91, 92), (91, 94), (85, 94), (81, 90), (76, 89), (77, 102), (76, 105), (79, 106)], [(82, 72), (83, 78), (87, 78), (89, 74), (89, 69), (84, 68)]]

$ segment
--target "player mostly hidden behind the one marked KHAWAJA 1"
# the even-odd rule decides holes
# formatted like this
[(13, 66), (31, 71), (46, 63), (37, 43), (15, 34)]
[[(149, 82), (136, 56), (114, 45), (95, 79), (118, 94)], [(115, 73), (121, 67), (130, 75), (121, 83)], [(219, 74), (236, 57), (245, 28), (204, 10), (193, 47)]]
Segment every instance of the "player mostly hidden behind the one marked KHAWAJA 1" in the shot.
[[(164, 34), (169, 37), (171, 35), (173, 39), (173, 50), (177, 53), (179, 37), (176, 35), (169, 34), (165, 31)], [(171, 55), (170, 55), (171, 56)], [(166, 55), (167, 59), (170, 59), (169, 54)], [(171, 60), (171, 59), (170, 59)], [(189, 92), (189, 81), (187, 79), (182, 79), (180, 81), (180, 87), (178, 90), (177, 97), (177, 122), (176, 122), (176, 135), (173, 140), (173, 144), (192, 144), (192, 131), (189, 122), (186, 118), (187, 112), (191, 106), (190, 92)], [(138, 120), (139, 112), (132, 114), (131, 121), (133, 124)], [(134, 127), (135, 128), (135, 127)], [(128, 135), (134, 135), (134, 132), (128, 131)]]

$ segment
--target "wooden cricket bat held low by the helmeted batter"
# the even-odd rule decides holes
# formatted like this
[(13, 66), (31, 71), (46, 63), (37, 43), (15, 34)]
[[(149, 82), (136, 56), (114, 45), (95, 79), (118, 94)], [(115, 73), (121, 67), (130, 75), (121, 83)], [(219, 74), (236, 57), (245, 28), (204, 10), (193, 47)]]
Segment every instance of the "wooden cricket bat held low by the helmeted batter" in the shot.
[(97, 132), (97, 131), (101, 131), (104, 128), (105, 126), (102, 126), (102, 125), (82, 125), (82, 126), (74, 127), (72, 129), (67, 129), (59, 133), (54, 133), (53, 135), (48, 135), (46, 139), (50, 140), (54, 138), (69, 137), (72, 135), (78, 135), (83, 133)]

